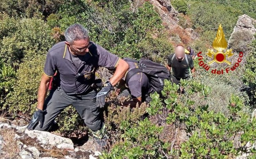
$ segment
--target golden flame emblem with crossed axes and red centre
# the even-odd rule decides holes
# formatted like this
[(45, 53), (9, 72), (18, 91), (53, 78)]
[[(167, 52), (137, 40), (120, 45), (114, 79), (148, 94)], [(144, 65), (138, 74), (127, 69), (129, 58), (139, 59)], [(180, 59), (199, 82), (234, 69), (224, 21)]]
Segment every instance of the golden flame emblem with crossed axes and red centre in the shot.
[(209, 65), (213, 64), (214, 62), (218, 64), (222, 64), (223, 62), (225, 62), (226, 64), (231, 65), (231, 62), (229, 62), (227, 58), (233, 56), (234, 54), (232, 53), (232, 49), (227, 49), (227, 41), (225, 39), (225, 35), (221, 27), (221, 24), (219, 25), (212, 46), (216, 51), (208, 49), (206, 53), (206, 55), (210, 58), (213, 57), (213, 60), (209, 62)]

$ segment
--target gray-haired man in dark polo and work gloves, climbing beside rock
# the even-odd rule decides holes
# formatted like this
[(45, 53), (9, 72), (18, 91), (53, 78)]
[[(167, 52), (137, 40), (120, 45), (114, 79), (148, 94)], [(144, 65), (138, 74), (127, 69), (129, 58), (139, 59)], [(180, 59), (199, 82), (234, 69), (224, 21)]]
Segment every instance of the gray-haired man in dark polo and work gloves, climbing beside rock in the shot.
[[(90, 41), (88, 31), (74, 24), (65, 31), (66, 41), (54, 45), (48, 52), (38, 91), (38, 105), (28, 130), (50, 131), (55, 118), (73, 105), (93, 132), (97, 143), (105, 145), (105, 125), (99, 116), (105, 97), (125, 75), (128, 64), (114, 54)], [(111, 79), (97, 93), (91, 84), (99, 67), (116, 68)], [(46, 98), (51, 77), (58, 71), (60, 86)]]

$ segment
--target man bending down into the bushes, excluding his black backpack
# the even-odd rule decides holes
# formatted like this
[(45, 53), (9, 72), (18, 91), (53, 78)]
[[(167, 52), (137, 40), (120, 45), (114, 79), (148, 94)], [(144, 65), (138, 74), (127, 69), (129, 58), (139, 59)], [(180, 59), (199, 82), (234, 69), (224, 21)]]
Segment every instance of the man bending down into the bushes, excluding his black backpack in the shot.
[[(125, 60), (125, 58), (124, 58)], [(134, 68), (138, 68), (138, 64), (136, 62), (126, 61), (129, 65), (129, 71)], [(126, 73), (126, 74), (127, 74)], [(122, 97), (130, 97), (131, 100), (125, 101), (123, 105), (129, 105), (130, 107), (136, 107), (138, 103), (141, 105), (142, 102), (149, 103), (151, 101), (150, 93), (153, 92), (153, 88), (149, 83), (149, 79), (145, 73), (139, 72), (133, 75), (129, 81), (127, 81), (126, 77), (123, 77), (120, 81), (121, 85), (125, 84), (126, 89), (124, 89), (118, 96)]]

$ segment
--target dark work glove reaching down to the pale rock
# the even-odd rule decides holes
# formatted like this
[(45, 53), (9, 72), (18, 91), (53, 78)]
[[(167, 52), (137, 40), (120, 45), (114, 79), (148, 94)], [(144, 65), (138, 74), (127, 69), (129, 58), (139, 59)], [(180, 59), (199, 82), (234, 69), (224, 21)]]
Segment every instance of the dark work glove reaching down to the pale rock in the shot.
[(43, 128), (43, 119), (44, 119), (44, 112), (43, 110), (36, 109), (32, 120), (30, 121), (29, 125), (27, 126), (28, 130), (34, 130), (34, 127), (40, 122), (39, 127)]

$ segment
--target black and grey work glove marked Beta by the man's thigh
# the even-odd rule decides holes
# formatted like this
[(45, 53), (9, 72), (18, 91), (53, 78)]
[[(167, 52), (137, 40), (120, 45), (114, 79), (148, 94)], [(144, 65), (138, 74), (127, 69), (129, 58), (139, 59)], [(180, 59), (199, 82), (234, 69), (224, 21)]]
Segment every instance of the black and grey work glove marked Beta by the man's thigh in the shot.
[(105, 105), (105, 98), (108, 96), (110, 90), (114, 89), (110, 81), (104, 84), (104, 87), (98, 92), (96, 96), (97, 107), (103, 108)]

